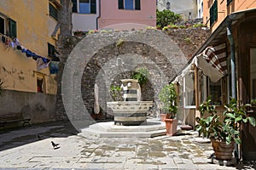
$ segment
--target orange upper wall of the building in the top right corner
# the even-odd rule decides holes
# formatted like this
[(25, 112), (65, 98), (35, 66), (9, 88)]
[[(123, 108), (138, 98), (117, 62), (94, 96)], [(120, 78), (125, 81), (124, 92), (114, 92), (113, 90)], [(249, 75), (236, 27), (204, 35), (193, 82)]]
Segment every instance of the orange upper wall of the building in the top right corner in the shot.
[[(204, 0), (203, 9), (203, 22), (210, 27), (210, 8), (214, 0)], [(229, 6), (227, 6), (227, 0), (218, 0), (218, 19), (211, 26), (211, 31), (215, 31), (220, 23), (225, 19), (226, 16), (236, 11), (246, 10), (250, 8), (256, 8), (256, 0), (233, 0)], [(208, 21), (208, 22), (207, 22)]]

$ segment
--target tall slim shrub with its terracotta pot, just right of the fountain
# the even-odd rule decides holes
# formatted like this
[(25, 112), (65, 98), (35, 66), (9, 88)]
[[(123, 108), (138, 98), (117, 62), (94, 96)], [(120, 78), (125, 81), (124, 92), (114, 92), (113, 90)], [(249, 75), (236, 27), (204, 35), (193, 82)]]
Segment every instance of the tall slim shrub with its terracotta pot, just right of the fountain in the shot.
[(172, 136), (177, 132), (177, 93), (174, 84), (166, 84), (160, 91), (159, 98), (166, 115), (166, 134)]

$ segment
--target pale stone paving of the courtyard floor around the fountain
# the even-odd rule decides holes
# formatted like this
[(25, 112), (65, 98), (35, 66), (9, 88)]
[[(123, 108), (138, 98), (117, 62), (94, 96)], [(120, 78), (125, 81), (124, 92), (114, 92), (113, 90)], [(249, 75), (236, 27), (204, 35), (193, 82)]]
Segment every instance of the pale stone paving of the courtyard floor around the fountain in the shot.
[(196, 135), (89, 139), (67, 122), (20, 127), (0, 131), (0, 169), (255, 169), (211, 163), (211, 144)]

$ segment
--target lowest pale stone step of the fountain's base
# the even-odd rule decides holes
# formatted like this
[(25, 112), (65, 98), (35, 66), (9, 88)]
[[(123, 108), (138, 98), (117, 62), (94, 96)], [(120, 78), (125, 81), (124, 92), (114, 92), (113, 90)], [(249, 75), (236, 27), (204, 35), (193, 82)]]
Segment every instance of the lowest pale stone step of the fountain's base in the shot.
[(104, 132), (88, 127), (81, 129), (80, 135), (84, 137), (94, 136), (99, 138), (152, 138), (166, 135), (166, 129), (149, 132)]

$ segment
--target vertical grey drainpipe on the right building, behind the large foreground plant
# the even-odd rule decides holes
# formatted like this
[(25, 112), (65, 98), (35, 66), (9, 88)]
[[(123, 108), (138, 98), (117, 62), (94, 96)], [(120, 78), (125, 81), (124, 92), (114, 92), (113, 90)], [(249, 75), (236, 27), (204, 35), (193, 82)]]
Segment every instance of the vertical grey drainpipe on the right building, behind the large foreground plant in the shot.
[[(235, 42), (232, 36), (232, 19), (229, 16), (227, 20), (227, 37), (230, 42), (230, 58), (231, 58), (231, 96), (236, 99), (236, 56), (235, 56)], [(236, 163), (240, 159), (238, 144), (235, 144), (235, 158)]]

